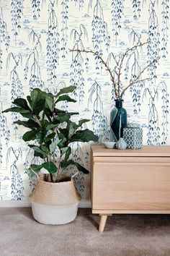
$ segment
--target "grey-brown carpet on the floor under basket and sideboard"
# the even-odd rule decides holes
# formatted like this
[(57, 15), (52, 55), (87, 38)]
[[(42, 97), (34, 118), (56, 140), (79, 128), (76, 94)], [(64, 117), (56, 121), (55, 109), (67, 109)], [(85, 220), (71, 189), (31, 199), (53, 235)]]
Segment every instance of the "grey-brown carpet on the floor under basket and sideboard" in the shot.
[(1, 256), (170, 256), (169, 215), (115, 215), (104, 233), (99, 216), (79, 209), (75, 221), (45, 226), (30, 208), (0, 208)]

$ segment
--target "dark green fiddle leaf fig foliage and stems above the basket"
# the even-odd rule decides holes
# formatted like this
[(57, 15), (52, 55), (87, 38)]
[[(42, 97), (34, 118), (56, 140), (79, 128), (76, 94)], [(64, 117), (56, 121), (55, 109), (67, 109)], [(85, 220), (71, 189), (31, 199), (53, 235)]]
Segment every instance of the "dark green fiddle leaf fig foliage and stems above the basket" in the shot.
[(75, 89), (75, 86), (69, 86), (61, 89), (57, 95), (53, 95), (35, 88), (27, 99), (17, 98), (12, 108), (3, 111), (17, 112), (27, 119), (27, 121), (14, 121), (14, 124), (30, 129), (24, 133), (22, 139), (25, 142), (32, 141), (28, 146), (34, 150), (34, 156), (42, 158), (41, 164), (30, 165), (27, 174), (34, 176), (45, 168), (50, 174), (50, 182), (58, 182), (62, 171), (69, 165), (76, 166), (84, 174), (89, 173), (70, 156), (71, 143), (98, 141), (98, 137), (91, 130), (81, 129), (82, 124), (90, 120), (81, 119), (76, 124), (71, 121), (71, 116), (78, 115), (79, 112), (63, 111), (57, 107), (61, 101), (75, 103), (76, 101), (67, 95)]

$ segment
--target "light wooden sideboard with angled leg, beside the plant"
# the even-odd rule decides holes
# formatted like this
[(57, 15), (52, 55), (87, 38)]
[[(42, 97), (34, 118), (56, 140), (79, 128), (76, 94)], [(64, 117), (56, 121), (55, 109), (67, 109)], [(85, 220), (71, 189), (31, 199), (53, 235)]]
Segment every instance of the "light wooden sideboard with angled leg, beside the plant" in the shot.
[(101, 232), (113, 213), (170, 213), (170, 146), (91, 145), (91, 203)]

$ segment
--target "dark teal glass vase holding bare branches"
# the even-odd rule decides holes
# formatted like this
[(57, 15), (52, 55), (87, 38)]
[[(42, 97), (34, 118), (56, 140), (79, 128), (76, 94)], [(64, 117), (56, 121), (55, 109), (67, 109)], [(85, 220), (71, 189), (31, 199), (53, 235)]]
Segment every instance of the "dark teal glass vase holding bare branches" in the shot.
[(127, 112), (122, 108), (122, 99), (115, 100), (115, 108), (110, 113), (110, 125), (117, 140), (123, 135), (123, 128), (127, 127)]

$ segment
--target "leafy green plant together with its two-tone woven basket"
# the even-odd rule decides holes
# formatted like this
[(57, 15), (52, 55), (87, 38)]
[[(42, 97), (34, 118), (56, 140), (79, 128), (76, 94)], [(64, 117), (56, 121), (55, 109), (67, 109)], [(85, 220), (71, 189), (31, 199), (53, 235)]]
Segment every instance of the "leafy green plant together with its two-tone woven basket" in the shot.
[[(76, 102), (68, 96), (75, 89), (75, 86), (69, 86), (53, 95), (35, 88), (27, 100), (17, 98), (13, 102), (15, 106), (4, 111), (17, 112), (24, 117), (23, 121), (14, 123), (30, 129), (22, 139), (33, 141), (28, 146), (34, 150), (34, 156), (42, 160), (41, 164), (33, 163), (27, 170), (28, 175), (38, 176), (30, 201), (33, 216), (40, 223), (63, 224), (76, 218), (80, 195), (76, 192), (73, 179), (63, 172), (69, 165), (76, 166), (84, 174), (89, 171), (71, 159), (71, 143), (98, 140), (91, 130), (81, 128), (89, 119), (81, 119), (76, 124), (71, 121), (71, 116), (78, 112), (57, 108), (61, 101)], [(39, 175), (42, 169), (48, 174)]]

